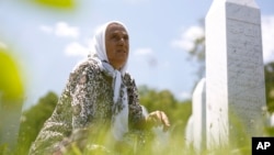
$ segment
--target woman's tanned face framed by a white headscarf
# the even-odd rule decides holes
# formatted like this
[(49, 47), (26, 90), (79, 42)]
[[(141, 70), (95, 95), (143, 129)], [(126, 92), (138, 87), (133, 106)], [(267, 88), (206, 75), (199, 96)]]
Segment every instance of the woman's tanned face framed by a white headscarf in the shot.
[(105, 49), (110, 64), (121, 69), (128, 57), (129, 43), (125, 27), (118, 23), (111, 23), (105, 31)]

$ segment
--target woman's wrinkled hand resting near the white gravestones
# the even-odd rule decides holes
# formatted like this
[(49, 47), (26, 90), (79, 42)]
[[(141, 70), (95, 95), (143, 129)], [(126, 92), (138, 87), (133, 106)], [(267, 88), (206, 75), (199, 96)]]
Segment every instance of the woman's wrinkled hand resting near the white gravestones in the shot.
[(170, 128), (169, 118), (162, 111), (153, 111), (146, 118), (149, 128), (163, 125), (162, 131), (167, 132)]

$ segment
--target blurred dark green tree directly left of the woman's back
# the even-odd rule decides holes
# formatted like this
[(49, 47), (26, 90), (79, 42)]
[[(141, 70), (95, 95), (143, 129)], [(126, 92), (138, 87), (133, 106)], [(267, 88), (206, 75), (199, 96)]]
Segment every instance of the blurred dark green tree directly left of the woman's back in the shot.
[(35, 106), (22, 113), (15, 154), (27, 154), (44, 122), (52, 115), (57, 101), (57, 95), (49, 91)]

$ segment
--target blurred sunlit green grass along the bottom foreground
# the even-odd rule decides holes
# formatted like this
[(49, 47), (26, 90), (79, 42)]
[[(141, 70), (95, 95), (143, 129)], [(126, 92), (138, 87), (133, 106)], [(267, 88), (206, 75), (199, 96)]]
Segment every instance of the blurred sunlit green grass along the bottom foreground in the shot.
[[(183, 110), (183, 109), (181, 109)], [(31, 118), (28, 118), (31, 119)], [(176, 118), (180, 120), (180, 118)], [(168, 135), (168, 139), (161, 141), (161, 139), (147, 139), (146, 145), (144, 147), (139, 147), (137, 144), (137, 139), (133, 139), (132, 151), (128, 151), (127, 147), (119, 147), (121, 155), (127, 155), (129, 152), (130, 154), (141, 154), (141, 155), (250, 155), (251, 154), (251, 137), (249, 137), (244, 132), (239, 132), (237, 134), (231, 134), (230, 137), (230, 145), (216, 147), (215, 150), (204, 150), (202, 152), (195, 152), (193, 147), (187, 147), (185, 145), (185, 135), (183, 131), (176, 130), (173, 124), (171, 130), (168, 133), (159, 134), (160, 137)], [(236, 128), (242, 128), (239, 124), (236, 124)], [(28, 128), (28, 134), (32, 134), (32, 128)], [(240, 130), (243, 131), (243, 130)], [(95, 134), (94, 134), (95, 133)], [(263, 133), (264, 135), (273, 135), (273, 128), (265, 128)], [(138, 135), (138, 134), (137, 134)], [(28, 136), (28, 135), (23, 135)], [(106, 143), (112, 143), (112, 141), (107, 137), (109, 131), (104, 128), (98, 128), (96, 130), (92, 130), (91, 132), (80, 131), (75, 133), (70, 136), (71, 143), (70, 146), (66, 150), (66, 155), (109, 155), (114, 154), (111, 148), (109, 150), (107, 146), (103, 145)], [(240, 137), (244, 137), (244, 141)], [(95, 142), (95, 143), (94, 143)], [(93, 145), (95, 144), (95, 145)], [(25, 147), (25, 148), (24, 148)], [(30, 146), (24, 146), (21, 144), (21, 148), (14, 153), (9, 152), (7, 150), (7, 145), (0, 146), (0, 154), (2, 155), (10, 155), (12, 153), (18, 155), (26, 154)], [(21, 150), (21, 151), (20, 151)], [(24, 150), (24, 151), (23, 151)]]

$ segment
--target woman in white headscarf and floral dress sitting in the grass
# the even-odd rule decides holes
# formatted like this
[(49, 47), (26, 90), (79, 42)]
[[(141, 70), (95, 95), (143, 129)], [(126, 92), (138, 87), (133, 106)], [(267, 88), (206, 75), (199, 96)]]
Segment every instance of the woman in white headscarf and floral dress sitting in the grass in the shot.
[(152, 126), (162, 124), (163, 130), (170, 126), (161, 111), (148, 117), (142, 113), (135, 81), (126, 73), (129, 54), (126, 26), (109, 22), (93, 41), (94, 53), (70, 74), (30, 154), (62, 154), (73, 146), (81, 152), (88, 146), (90, 152), (129, 152), (135, 140), (138, 144), (145, 142)]

